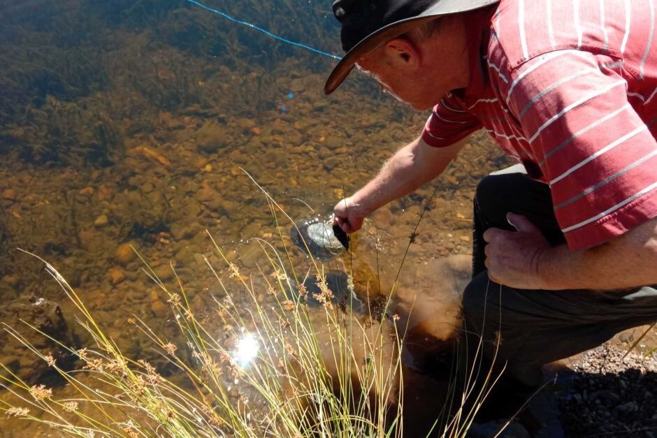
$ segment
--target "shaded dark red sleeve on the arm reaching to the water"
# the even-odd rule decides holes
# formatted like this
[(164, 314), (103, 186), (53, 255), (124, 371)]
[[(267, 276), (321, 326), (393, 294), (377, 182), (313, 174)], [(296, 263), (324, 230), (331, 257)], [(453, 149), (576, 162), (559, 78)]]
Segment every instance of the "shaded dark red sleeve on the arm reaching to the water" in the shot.
[(451, 146), (481, 126), (479, 120), (468, 113), (465, 105), (454, 94), (448, 93), (433, 107), (424, 125), (422, 140), (433, 147)]

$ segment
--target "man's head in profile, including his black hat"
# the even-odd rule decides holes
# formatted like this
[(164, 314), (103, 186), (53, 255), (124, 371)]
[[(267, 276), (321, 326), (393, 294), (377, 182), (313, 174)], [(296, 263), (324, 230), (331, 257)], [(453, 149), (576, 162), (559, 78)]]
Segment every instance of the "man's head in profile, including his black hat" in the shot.
[[(458, 13), (497, 1), (335, 1), (333, 13), (342, 24), (340, 36), (347, 54), (333, 69), (324, 92), (333, 92), (358, 64), (400, 100), (418, 109), (430, 107), (449, 89), (464, 86), (464, 74), (467, 80), (465, 23)], [(428, 82), (442, 89), (431, 103), (427, 103), (432, 100), (427, 96)]]

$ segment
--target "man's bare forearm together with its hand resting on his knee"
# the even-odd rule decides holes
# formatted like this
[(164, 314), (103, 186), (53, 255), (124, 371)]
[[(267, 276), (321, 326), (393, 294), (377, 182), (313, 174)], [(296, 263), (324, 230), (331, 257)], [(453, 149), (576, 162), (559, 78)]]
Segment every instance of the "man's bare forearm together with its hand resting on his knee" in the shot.
[(508, 214), (517, 232), (484, 233), (493, 281), (518, 289), (624, 289), (657, 284), (657, 219), (591, 249), (550, 247), (525, 217)]

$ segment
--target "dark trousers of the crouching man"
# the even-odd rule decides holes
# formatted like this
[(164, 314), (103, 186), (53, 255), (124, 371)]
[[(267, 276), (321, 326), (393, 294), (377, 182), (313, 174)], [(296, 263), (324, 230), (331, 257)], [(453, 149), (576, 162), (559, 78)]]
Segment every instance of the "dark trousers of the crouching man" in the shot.
[(472, 281), (463, 293), (466, 333), (483, 337), (484, 353), (524, 384), (540, 383), (545, 363), (572, 356), (628, 328), (657, 321), (657, 289), (565, 291), (512, 289), (491, 282), (484, 265), (482, 235), (495, 227), (512, 231), (507, 212), (523, 214), (553, 245), (565, 244), (549, 187), (524, 173), (489, 175), (477, 187)]

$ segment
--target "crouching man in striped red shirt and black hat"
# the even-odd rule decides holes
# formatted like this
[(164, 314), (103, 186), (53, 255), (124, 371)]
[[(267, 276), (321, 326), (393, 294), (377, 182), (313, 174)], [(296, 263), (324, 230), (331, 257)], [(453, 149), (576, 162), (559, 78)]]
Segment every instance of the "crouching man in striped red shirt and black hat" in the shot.
[[(468, 331), (524, 384), (544, 363), (657, 321), (657, 0), (338, 0), (354, 64), (413, 108), (421, 136), (335, 205), (353, 233), (442, 173), (485, 129), (522, 173), (475, 195)], [(497, 336), (500, 335), (500, 338)], [(484, 342), (491, 345), (493, 342)], [(491, 354), (491, 351), (489, 351)]]

